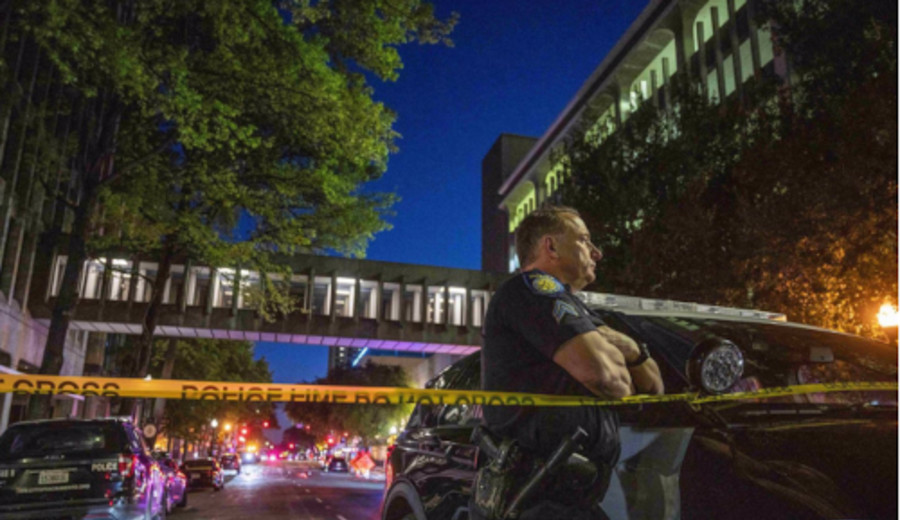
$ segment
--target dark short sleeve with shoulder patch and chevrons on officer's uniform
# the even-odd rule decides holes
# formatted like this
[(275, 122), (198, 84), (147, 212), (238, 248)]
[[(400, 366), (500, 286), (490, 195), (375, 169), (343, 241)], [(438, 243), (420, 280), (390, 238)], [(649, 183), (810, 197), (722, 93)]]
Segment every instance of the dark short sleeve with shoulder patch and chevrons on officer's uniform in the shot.
[(591, 319), (555, 278), (529, 279), (512, 284), (502, 306), (502, 319), (523, 342), (552, 359), (556, 349), (570, 339), (597, 329)]

